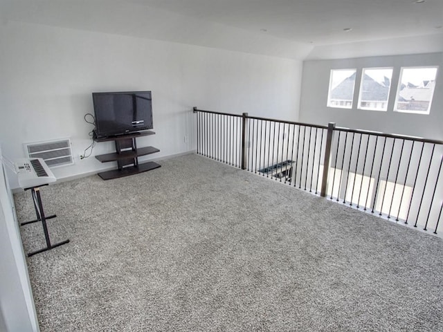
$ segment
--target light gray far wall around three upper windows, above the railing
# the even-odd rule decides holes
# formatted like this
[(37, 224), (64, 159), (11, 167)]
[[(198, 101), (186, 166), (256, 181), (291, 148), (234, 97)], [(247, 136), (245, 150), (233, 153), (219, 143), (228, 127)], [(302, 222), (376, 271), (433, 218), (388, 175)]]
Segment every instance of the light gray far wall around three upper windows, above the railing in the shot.
[[(431, 113), (428, 116), (392, 111), (401, 66), (440, 66), (437, 74)], [(331, 69), (357, 68), (356, 85), (361, 69), (392, 66), (388, 111), (367, 111), (326, 107)], [(354, 94), (355, 96), (355, 94)], [(354, 97), (355, 99), (355, 97)], [(356, 105), (356, 100), (354, 100)], [(368, 129), (443, 140), (443, 53), (361, 57), (355, 59), (312, 60), (303, 64), (300, 121), (316, 124), (336, 122), (339, 127)]]

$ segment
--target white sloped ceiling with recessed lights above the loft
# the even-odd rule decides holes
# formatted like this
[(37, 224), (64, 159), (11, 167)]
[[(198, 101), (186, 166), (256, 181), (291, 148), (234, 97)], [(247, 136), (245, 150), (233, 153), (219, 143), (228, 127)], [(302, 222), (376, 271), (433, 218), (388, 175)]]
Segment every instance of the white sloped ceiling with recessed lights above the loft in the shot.
[(442, 0), (0, 0), (0, 15), (291, 59), (443, 51)]

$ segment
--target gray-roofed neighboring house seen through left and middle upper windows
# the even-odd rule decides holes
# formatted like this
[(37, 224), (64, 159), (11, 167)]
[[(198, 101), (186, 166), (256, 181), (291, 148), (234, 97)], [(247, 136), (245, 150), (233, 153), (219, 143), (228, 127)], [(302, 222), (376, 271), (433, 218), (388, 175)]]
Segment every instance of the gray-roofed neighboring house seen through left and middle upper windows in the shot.
[[(356, 74), (347, 77), (331, 91), (329, 105), (332, 107), (352, 107)], [(360, 105), (362, 108), (386, 109), (388, 102), (390, 80), (384, 77), (383, 82), (377, 82), (372, 77), (363, 74), (361, 84)]]

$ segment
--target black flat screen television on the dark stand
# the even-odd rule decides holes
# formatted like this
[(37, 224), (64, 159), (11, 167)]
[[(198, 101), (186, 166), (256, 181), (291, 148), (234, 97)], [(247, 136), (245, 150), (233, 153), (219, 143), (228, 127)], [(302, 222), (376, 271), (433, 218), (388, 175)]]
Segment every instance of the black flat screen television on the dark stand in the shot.
[(97, 138), (154, 128), (151, 91), (93, 92), (92, 100)]

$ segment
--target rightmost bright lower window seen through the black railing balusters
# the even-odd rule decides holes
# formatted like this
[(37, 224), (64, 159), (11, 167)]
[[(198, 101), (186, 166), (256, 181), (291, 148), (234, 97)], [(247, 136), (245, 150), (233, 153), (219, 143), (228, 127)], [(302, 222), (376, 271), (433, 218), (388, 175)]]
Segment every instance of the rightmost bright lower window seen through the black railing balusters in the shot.
[(413, 187), (382, 180), (377, 194), (375, 210), (392, 217), (397, 217), (398, 214), (398, 219), (406, 220), (412, 192)]

